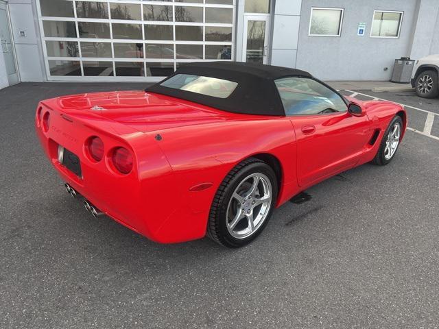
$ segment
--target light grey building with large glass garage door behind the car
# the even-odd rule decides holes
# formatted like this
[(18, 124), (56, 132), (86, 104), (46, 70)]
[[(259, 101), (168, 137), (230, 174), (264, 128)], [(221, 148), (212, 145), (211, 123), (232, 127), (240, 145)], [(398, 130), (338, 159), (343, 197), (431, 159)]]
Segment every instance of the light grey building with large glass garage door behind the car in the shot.
[(324, 80), (389, 80), (395, 58), (439, 53), (437, 0), (0, 0), (0, 88), (154, 82), (237, 60)]

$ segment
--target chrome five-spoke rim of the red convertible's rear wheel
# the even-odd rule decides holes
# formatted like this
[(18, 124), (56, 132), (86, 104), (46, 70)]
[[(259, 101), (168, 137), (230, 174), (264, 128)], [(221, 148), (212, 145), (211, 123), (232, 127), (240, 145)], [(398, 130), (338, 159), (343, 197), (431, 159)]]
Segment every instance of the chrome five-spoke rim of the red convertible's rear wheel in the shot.
[(244, 239), (256, 232), (267, 218), (272, 204), (272, 184), (263, 173), (252, 173), (242, 180), (227, 206), (227, 230)]

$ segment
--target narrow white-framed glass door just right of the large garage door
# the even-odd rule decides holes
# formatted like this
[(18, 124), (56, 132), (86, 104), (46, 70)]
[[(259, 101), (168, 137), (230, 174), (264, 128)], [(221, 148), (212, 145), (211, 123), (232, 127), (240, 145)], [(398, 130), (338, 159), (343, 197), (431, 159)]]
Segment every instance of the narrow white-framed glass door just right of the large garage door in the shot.
[(267, 64), (269, 16), (244, 16), (243, 62)]

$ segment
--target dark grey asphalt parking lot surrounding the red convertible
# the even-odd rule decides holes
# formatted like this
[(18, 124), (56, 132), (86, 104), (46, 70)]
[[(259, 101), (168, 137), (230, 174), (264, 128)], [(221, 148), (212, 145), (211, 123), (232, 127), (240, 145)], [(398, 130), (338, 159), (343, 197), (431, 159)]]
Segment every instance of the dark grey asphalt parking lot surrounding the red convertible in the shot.
[(0, 328), (438, 328), (439, 119), (424, 111), (439, 99), (342, 91), (417, 108), (396, 158), (313, 186), (226, 249), (94, 219), (43, 155), (40, 99), (144, 86), (0, 90)]

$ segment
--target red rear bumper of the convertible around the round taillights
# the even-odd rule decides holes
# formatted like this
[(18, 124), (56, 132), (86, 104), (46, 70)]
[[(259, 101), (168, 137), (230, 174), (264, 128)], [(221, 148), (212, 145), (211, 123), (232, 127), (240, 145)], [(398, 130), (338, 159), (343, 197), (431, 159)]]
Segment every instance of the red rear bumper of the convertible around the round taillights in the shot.
[[(72, 123), (62, 119), (62, 114), (55, 110), (45, 110), (51, 112), (49, 130), (43, 131), (37, 115), (36, 134), (62, 180), (82, 197), (105, 215), (152, 241), (175, 243), (204, 236), (209, 214), (191, 213), (187, 210), (182, 193), (175, 189), (175, 193), (172, 194), (172, 186), (179, 184), (175, 181), (172, 170), (154, 138), (147, 139), (150, 136), (139, 132), (135, 133), (135, 136), (141, 138), (123, 138), (95, 130), (89, 122), (78, 122), (83, 118), (76, 120), (72, 115)], [(73, 127), (75, 123), (78, 124)], [(110, 160), (107, 157), (99, 162), (93, 162), (87, 157), (84, 151), (85, 141), (95, 135), (102, 138), (106, 150), (123, 146), (132, 151), (134, 167), (128, 175), (112, 171), (108, 166)], [(58, 145), (80, 158), (81, 177), (60, 163)], [(191, 222), (191, 226), (186, 225), (188, 222)]]

